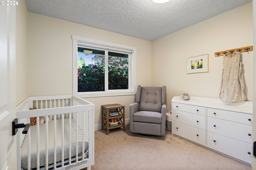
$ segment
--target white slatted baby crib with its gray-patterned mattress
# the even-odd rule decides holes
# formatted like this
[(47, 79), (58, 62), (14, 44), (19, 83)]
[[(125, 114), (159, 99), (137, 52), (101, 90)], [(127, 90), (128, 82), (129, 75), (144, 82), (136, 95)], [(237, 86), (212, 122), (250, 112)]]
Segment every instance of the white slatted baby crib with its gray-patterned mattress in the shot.
[(94, 104), (74, 95), (29, 97), (16, 107), (16, 117), (18, 123), (36, 117), (27, 134), (17, 133), (19, 169), (80, 170), (94, 164)]

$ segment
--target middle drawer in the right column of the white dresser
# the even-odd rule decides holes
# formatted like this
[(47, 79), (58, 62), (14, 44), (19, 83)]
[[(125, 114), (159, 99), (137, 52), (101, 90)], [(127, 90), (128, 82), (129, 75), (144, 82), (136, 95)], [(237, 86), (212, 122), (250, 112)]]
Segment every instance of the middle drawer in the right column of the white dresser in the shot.
[(252, 144), (252, 126), (207, 117), (207, 131)]

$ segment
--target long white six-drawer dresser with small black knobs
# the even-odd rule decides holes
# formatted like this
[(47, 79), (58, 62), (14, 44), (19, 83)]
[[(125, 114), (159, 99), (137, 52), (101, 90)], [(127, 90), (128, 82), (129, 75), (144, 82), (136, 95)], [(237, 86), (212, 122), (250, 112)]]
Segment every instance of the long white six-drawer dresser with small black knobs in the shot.
[(172, 98), (172, 135), (252, 164), (252, 102)]

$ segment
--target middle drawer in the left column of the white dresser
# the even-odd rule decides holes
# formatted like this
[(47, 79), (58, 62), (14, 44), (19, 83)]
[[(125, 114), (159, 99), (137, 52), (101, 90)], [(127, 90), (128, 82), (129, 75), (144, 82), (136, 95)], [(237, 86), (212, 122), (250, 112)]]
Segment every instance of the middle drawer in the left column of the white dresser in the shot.
[(205, 116), (188, 113), (180, 110), (172, 111), (172, 121), (177, 121), (186, 125), (205, 130)]

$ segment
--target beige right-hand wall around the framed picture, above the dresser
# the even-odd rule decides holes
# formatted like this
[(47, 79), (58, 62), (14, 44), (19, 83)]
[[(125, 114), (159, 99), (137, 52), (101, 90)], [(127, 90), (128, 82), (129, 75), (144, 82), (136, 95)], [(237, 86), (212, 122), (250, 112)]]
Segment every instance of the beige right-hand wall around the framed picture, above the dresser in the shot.
[[(152, 43), (152, 86), (167, 86), (167, 111), (173, 96), (219, 98), (223, 56), (214, 53), (253, 45), (252, 3), (202, 21)], [(186, 74), (186, 58), (209, 54), (209, 72)], [(253, 51), (241, 53), (246, 101), (252, 101)]]

